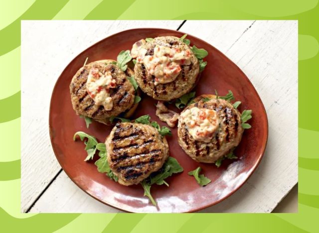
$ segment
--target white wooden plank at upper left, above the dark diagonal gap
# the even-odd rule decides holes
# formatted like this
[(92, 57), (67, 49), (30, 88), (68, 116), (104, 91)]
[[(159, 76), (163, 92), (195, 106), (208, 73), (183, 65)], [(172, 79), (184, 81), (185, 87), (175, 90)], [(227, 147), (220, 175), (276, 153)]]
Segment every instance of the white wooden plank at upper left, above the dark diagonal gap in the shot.
[(136, 27), (176, 29), (177, 21), (22, 21), (21, 212), (60, 166), (49, 139), (51, 92), (65, 66), (80, 52), (116, 32)]

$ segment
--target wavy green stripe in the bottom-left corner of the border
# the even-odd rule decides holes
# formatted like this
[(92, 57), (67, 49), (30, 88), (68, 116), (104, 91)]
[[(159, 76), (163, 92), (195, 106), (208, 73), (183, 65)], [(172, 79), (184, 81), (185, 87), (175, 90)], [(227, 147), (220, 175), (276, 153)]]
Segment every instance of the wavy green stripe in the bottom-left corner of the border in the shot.
[(53, 232), (64, 227), (79, 215), (41, 214), (27, 219), (16, 219), (0, 208), (1, 229), (6, 229), (7, 232)]

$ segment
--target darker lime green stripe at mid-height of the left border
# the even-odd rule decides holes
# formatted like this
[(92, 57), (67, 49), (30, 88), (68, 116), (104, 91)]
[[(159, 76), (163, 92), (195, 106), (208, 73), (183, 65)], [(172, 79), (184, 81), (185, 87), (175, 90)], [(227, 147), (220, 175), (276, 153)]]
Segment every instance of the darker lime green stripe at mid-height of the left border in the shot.
[(0, 100), (0, 123), (16, 119), (21, 116), (21, 92)]

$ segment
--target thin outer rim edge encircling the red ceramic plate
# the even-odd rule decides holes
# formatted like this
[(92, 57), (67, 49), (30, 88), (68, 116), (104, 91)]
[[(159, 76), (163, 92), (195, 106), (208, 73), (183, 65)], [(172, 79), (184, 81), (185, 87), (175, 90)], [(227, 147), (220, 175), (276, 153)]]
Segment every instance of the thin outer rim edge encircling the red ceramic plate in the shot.
[[(264, 106), (264, 103), (262, 102), (255, 86), (251, 83), (250, 79), (247, 77), (247, 75), (237, 66), (236, 63), (234, 63), (231, 59), (229, 59), (223, 52), (221, 52), (219, 49), (217, 49), (215, 46), (211, 45), (209, 42), (203, 40), (203, 39), (200, 39), (196, 36), (193, 36), (189, 33), (185, 33), (185, 32), (182, 32), (182, 31), (179, 31), (179, 30), (173, 30), (173, 29), (167, 29), (167, 28), (153, 28), (153, 27), (141, 27), (141, 28), (131, 28), (131, 29), (127, 29), (127, 30), (122, 30), (122, 31), (119, 31), (117, 33), (114, 33), (114, 34), (111, 34), (99, 41), (97, 41), (96, 43), (92, 44), (91, 46), (87, 47), (86, 49), (84, 49), (82, 52), (80, 52), (78, 55), (76, 55), (69, 63), (68, 65), (63, 69), (63, 71), (60, 73), (59, 77), (57, 78), (55, 84), (54, 84), (54, 87), (52, 89), (52, 92), (51, 92), (51, 98), (50, 98), (50, 106), (49, 106), (49, 135), (50, 135), (50, 142), (51, 142), (51, 147), (53, 149), (53, 152), (54, 152), (54, 155), (55, 155), (55, 158), (57, 159), (59, 165), (61, 166), (62, 170), (65, 172), (65, 174), (70, 178), (70, 180), (76, 184), (82, 191), (84, 191), (86, 194), (88, 194), (89, 196), (93, 197), (95, 200), (103, 203), (104, 205), (107, 205), (109, 207), (112, 207), (112, 208), (115, 208), (117, 210), (120, 210), (120, 211), (124, 211), (126, 213), (163, 213), (163, 212), (131, 212), (131, 211), (127, 211), (127, 210), (124, 210), (124, 209), (121, 209), (119, 207), (116, 207), (116, 206), (113, 206), (112, 204), (109, 204), (101, 199), (98, 199), (97, 197), (95, 197), (94, 195), (90, 194), (87, 190), (83, 189), (77, 182), (75, 182), (75, 180), (68, 174), (68, 172), (64, 169), (64, 166), (62, 165), (62, 163), (60, 162), (58, 156), (57, 156), (57, 152), (53, 146), (53, 135), (52, 135), (52, 130), (51, 130), (51, 109), (52, 109), (52, 96), (54, 94), (54, 92), (56, 91), (56, 87), (57, 87), (57, 83), (59, 81), (59, 79), (61, 78), (62, 74), (69, 68), (70, 64), (77, 58), (79, 57), (81, 54), (85, 53), (87, 50), (89, 50), (90, 48), (96, 46), (97, 44), (101, 43), (102, 41), (104, 41), (105, 39), (108, 39), (108, 38), (111, 38), (113, 36), (116, 36), (118, 34), (121, 34), (123, 32), (129, 32), (129, 31), (135, 31), (135, 30), (165, 30), (166, 32), (174, 32), (174, 33), (181, 33), (181, 34), (187, 34), (187, 35), (190, 35), (204, 43), (207, 43), (209, 44), (210, 46), (212, 46), (214, 49), (216, 49), (219, 53), (221, 53), (228, 61), (230, 61), (231, 63), (233, 63), (234, 67), (236, 68), (237, 71), (239, 71), (240, 73), (242, 73), (248, 80), (248, 82), (252, 85), (253, 87), (253, 90), (256, 94), (256, 96), (258, 97), (258, 99), (260, 100), (261, 104), (262, 104), (262, 112), (264, 113), (264, 116), (266, 117), (265, 118), (265, 121), (266, 121), (266, 140), (263, 141), (262, 143), (262, 153), (261, 155), (258, 157), (257, 159), (257, 162), (253, 164), (253, 166), (250, 168), (249, 172), (247, 173), (247, 176), (246, 178), (241, 182), (241, 184), (236, 187), (234, 190), (232, 190), (231, 192), (229, 192), (227, 195), (225, 195), (225, 197), (219, 199), (218, 201), (215, 201), (214, 203), (212, 204), (209, 204), (209, 205), (205, 205), (205, 206), (202, 206), (202, 207), (198, 207), (198, 208), (194, 208), (194, 209), (191, 209), (187, 212), (171, 212), (171, 213), (194, 213), (194, 212), (197, 212), (197, 211), (200, 211), (200, 210), (203, 210), (203, 209), (206, 209), (208, 207), (211, 207), (211, 206), (215, 206), (216, 204), (224, 201), (225, 199), (229, 198), (232, 194), (234, 194), (237, 190), (239, 190), (246, 182), (247, 180), (251, 177), (251, 175), (255, 172), (255, 170), (258, 168), (259, 164), (261, 163), (264, 155), (265, 155), (265, 150), (266, 150), (266, 147), (267, 147), (267, 142), (268, 142), (268, 136), (269, 136), (269, 124), (268, 124), (268, 116), (267, 116), (267, 112), (266, 112), (266, 109), (265, 109), (265, 106)], [(92, 212), (93, 213), (93, 212)]]

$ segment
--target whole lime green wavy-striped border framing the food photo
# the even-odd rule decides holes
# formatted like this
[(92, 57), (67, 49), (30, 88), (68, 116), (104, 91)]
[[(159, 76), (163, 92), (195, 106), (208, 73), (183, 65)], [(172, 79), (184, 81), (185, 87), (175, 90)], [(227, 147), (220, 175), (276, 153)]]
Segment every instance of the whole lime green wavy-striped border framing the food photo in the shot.
[[(21, 214), (19, 67), (25, 19), (298, 19), (299, 213)], [(1, 232), (318, 232), (318, 22), (318, 0), (1, 0)]]

